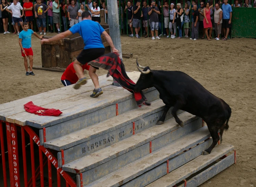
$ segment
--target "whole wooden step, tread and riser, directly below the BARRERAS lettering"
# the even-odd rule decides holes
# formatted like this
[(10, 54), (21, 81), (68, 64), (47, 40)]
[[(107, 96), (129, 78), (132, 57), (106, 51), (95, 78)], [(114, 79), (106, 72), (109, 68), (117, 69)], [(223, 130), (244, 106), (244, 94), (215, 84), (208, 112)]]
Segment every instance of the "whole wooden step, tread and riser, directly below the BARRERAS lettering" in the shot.
[(62, 169), (72, 173), (83, 172), (86, 176), (84, 184), (89, 184), (202, 127), (202, 119), (190, 113), (181, 114), (180, 119), (186, 124), (184, 128), (180, 128), (174, 119), (170, 119), (163, 125), (155, 125), (109, 147), (65, 164)]

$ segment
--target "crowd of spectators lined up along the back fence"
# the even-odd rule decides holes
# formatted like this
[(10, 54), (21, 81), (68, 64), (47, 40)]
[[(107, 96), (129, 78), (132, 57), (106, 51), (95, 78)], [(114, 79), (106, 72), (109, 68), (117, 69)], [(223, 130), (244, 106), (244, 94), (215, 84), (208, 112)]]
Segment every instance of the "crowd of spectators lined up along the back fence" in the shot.
[[(98, 23), (100, 10), (105, 12), (105, 23), (108, 17), (105, 0), (22, 0), (22, 4), (20, 0), (12, 0), (12, 3), (7, 0), (0, 1), (0, 32), (3, 34), (10, 34), (9, 19), (14, 34), (19, 35), (20, 27), (23, 29), (22, 22), (27, 22), (32, 30), (39, 30), (40, 35), (46, 35), (47, 30), (53, 32), (56, 28), (60, 33), (61, 30), (66, 31), (81, 22), (81, 15), (85, 10), (88, 10), (92, 20)], [(185, 3), (183, 0), (178, 1), (176, 3), (175, 0), (163, 0), (162, 4), (161, 0), (117, 0), (121, 35), (128, 27), (129, 37), (141, 38), (140, 30), (143, 29), (144, 37), (150, 36), (152, 40), (161, 39), (162, 33), (167, 38), (181, 39), (184, 27), (185, 38), (188, 38), (191, 29), (190, 39), (197, 40), (200, 33), (200, 38), (211, 40), (214, 30), (216, 40), (220, 39), (220, 34), (223, 40), (227, 40), (232, 25), (231, 6), (256, 7), (256, 0), (234, 0), (231, 5), (228, 0), (215, 4), (213, 0), (185, 0)]]

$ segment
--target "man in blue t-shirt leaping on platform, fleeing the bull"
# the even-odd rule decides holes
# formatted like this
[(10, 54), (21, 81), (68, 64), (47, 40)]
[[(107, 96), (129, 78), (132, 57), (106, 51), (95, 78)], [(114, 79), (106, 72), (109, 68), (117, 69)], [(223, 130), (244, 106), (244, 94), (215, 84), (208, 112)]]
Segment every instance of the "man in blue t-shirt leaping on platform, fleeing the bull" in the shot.
[[(104, 36), (109, 43), (112, 52), (119, 53), (108, 35), (108, 33), (100, 26), (99, 23), (92, 21), (92, 16), (88, 11), (82, 13), (83, 21), (75, 24), (69, 30), (62, 32), (50, 39), (42, 39), (41, 44), (48, 43), (52, 41), (57, 41), (68, 37), (72, 34), (79, 33), (84, 40), (84, 50), (77, 56), (74, 61), (74, 69), (76, 71), (79, 80), (74, 85), (74, 89), (80, 88), (81, 85), (86, 84), (86, 78), (84, 76), (82, 65), (95, 60), (96, 58), (104, 55), (105, 47), (101, 40), (101, 35)], [(99, 86), (98, 76), (96, 75), (96, 67), (90, 66), (89, 76), (93, 81), (95, 89), (90, 97), (98, 97), (103, 93)]]

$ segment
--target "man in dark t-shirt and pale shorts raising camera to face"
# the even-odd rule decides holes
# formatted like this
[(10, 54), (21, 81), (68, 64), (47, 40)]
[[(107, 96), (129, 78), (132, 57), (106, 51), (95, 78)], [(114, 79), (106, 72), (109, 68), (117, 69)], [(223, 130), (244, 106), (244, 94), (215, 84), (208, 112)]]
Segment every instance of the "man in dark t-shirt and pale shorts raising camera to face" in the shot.
[[(150, 24), (150, 31), (152, 40), (160, 40), (161, 38), (158, 36), (158, 28), (159, 28), (159, 21), (158, 21), (158, 14), (160, 14), (160, 11), (158, 7), (156, 6), (156, 1), (151, 1), (151, 6), (148, 8), (148, 15), (150, 18), (149, 24)], [(156, 34), (156, 39), (154, 37), (154, 31)]]

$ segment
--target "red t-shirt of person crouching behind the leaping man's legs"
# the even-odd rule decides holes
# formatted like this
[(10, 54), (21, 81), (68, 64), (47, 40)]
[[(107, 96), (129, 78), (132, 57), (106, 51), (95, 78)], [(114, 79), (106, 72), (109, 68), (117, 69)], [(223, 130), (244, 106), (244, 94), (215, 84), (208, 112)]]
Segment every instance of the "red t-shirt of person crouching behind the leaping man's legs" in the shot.
[[(76, 83), (78, 81), (78, 77), (75, 74), (75, 69), (73, 67), (74, 62), (72, 62), (64, 71), (64, 73), (61, 76), (61, 80), (69, 80), (72, 84)], [(90, 66), (87, 65), (87, 63), (85, 65), (82, 66), (83, 70), (89, 70)]]

